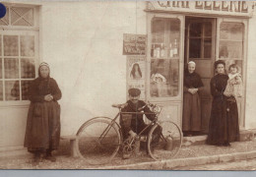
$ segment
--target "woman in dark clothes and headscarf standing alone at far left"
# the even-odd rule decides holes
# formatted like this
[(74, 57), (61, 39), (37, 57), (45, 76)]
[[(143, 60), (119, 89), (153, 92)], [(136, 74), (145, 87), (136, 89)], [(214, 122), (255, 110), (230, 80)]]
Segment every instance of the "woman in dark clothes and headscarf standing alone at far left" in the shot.
[(49, 65), (42, 62), (38, 68), (38, 78), (32, 81), (29, 90), (31, 105), (27, 120), (25, 148), (34, 155), (38, 163), (42, 157), (56, 161), (52, 150), (57, 149), (60, 140), (61, 90), (50, 78)]

